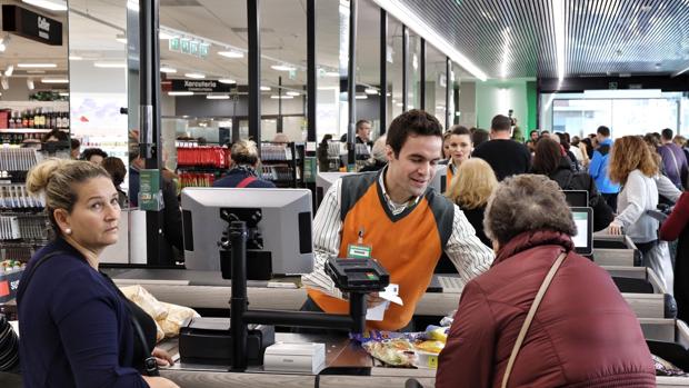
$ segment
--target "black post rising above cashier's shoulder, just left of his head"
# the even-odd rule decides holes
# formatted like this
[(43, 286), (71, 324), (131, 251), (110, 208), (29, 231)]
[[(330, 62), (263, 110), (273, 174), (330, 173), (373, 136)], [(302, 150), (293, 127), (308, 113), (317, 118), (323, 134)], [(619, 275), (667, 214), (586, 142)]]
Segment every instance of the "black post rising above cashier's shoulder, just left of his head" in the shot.
[(349, 69), (347, 69), (347, 103), (349, 128), (347, 130), (347, 165), (356, 163), (355, 123), (357, 122), (357, 1), (349, 1)]

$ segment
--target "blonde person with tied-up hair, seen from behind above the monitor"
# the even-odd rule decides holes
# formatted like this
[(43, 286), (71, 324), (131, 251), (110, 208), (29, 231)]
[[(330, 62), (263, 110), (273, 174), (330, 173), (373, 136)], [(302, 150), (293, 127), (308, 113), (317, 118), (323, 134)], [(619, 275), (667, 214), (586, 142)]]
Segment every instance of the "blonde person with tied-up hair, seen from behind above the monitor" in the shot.
[(259, 178), (256, 169), (260, 160), (256, 142), (251, 140), (238, 140), (230, 148), (232, 167), (224, 177), (213, 182), (213, 187), (234, 187), (234, 188), (268, 188), (272, 189), (276, 185), (269, 180)]

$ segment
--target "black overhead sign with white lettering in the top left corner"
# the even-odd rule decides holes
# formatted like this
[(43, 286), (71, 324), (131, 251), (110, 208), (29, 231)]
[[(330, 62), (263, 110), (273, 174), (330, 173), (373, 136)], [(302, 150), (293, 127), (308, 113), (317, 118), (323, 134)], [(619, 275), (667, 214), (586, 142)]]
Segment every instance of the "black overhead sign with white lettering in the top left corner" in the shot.
[(18, 6), (2, 6), (2, 31), (50, 46), (62, 46), (61, 22)]

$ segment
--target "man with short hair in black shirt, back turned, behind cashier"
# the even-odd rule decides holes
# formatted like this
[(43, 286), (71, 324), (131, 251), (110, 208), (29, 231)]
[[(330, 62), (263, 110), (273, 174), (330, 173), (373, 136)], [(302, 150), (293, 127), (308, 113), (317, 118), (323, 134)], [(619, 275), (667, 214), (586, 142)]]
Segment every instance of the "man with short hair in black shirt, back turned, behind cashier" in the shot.
[(481, 158), (492, 167), (498, 180), (526, 173), (531, 168), (531, 152), (527, 146), (510, 139), (511, 121), (498, 115), (490, 123), (490, 141), (476, 146), (472, 157)]

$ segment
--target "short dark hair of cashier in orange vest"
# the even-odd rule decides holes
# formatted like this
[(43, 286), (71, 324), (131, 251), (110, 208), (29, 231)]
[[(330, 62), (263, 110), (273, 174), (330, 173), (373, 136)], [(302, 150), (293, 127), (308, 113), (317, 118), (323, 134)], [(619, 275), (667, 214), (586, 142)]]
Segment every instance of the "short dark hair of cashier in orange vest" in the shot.
[(437, 136), (442, 140), (442, 126), (435, 116), (426, 111), (412, 109), (398, 116), (388, 128), (386, 143), (392, 148), (398, 157), (400, 150), (411, 136)]

